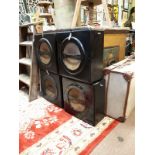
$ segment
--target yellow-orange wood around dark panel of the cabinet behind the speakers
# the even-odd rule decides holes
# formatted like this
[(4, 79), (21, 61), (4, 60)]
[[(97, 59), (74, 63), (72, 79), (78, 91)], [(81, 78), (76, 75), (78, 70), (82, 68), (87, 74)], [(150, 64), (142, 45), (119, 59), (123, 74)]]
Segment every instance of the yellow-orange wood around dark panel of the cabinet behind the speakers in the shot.
[(119, 61), (125, 58), (126, 37), (126, 33), (104, 35), (104, 47), (119, 46)]

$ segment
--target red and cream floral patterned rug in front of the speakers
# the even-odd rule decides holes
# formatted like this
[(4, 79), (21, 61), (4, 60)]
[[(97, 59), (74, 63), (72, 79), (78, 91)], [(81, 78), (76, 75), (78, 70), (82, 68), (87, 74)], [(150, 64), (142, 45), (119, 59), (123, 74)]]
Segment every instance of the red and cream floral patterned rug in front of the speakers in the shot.
[(118, 124), (105, 117), (95, 127), (43, 98), (19, 105), (20, 155), (87, 155)]

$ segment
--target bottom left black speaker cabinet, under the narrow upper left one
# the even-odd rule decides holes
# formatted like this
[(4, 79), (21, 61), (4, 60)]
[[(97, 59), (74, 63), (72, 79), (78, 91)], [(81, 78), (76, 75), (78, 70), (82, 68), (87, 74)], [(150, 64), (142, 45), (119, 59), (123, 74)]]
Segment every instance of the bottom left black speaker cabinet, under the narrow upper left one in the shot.
[(63, 108), (62, 79), (59, 75), (41, 71), (41, 95), (48, 101)]

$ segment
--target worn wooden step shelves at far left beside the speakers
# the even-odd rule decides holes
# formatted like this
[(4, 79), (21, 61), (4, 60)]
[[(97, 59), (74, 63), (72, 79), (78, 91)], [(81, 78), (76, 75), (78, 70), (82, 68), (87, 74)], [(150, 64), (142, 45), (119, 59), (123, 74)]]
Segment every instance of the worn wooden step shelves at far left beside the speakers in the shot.
[[(40, 23), (40, 22), (36, 22)], [(33, 25), (33, 34), (32, 34), (32, 40), (31, 41), (26, 41), (26, 35), (28, 33), (28, 27), (31, 26), (32, 23), (27, 24), (25, 26), (20, 27), (20, 43), (19, 43), (19, 65), (21, 70), (20, 70), (20, 75), (19, 75), (19, 81), (20, 83), (24, 83), (28, 86), (28, 100), (32, 101), (34, 99), (37, 99), (38, 97), (38, 66), (36, 62), (36, 57), (34, 54), (34, 48), (33, 48), (33, 42), (34, 42), (34, 34), (36, 33), (36, 28), (35, 25)], [(25, 47), (24, 47), (25, 46)], [(30, 50), (27, 50), (28, 47), (31, 46)], [(25, 50), (22, 48), (26, 48)], [(24, 54), (26, 52), (26, 54)], [(29, 57), (27, 57), (27, 55)], [(22, 71), (22, 68), (26, 65), (30, 69), (30, 75), (27, 75)], [(23, 84), (22, 84), (23, 85)], [(20, 87), (22, 87), (22, 85)], [(21, 92), (21, 91), (20, 91)]]

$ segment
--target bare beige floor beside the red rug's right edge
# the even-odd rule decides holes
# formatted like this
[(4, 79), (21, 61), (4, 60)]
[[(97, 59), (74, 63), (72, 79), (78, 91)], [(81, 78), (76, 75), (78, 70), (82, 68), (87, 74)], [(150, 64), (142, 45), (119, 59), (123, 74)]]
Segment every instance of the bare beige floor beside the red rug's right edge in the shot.
[(125, 123), (119, 124), (90, 155), (134, 155), (135, 111)]

